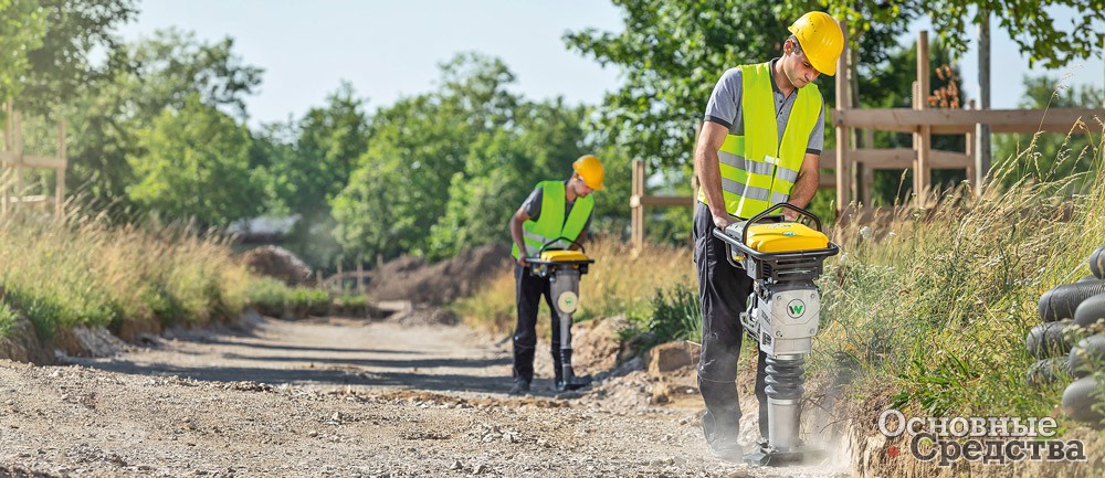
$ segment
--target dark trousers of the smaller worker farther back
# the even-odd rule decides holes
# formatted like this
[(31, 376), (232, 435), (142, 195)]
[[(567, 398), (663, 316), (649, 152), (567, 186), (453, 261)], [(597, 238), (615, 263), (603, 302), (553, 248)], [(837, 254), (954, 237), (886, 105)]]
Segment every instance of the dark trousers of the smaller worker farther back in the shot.
[[(548, 277), (537, 277), (528, 267), (514, 266), (514, 282), (518, 301), (518, 323), (514, 329), (514, 378), (534, 381), (534, 350), (537, 347), (537, 306), (541, 297), (552, 311), (552, 362), (560, 363), (560, 320), (556, 317), (549, 293)], [(559, 373), (559, 369), (556, 370)]]

